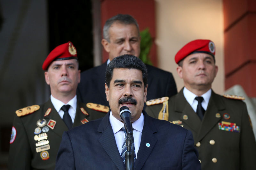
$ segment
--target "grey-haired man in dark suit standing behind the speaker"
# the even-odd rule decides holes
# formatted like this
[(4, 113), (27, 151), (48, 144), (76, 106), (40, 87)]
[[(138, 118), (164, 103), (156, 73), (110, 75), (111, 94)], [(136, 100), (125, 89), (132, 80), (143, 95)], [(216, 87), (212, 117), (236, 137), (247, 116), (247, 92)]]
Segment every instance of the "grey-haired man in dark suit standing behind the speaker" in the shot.
[[(139, 25), (132, 16), (118, 14), (106, 21), (103, 37), (101, 44), (109, 54), (108, 61), (81, 73), (77, 97), (84, 103), (95, 102), (108, 106), (104, 88), (106, 67), (113, 58), (120, 55), (130, 54), (139, 57)], [(170, 97), (177, 93), (172, 73), (147, 64), (146, 67), (148, 69), (148, 100), (162, 96)]]

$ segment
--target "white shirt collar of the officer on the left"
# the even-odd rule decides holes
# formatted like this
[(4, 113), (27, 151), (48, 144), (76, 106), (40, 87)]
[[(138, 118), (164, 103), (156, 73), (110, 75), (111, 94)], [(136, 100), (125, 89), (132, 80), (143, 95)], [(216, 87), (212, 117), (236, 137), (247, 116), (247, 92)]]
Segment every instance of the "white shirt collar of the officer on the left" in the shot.
[(73, 99), (69, 100), (69, 102), (66, 103), (66, 104), (63, 103), (62, 101), (58, 100), (58, 99), (55, 99), (52, 95), (51, 95), (51, 101), (52, 101), (52, 105), (54, 106), (54, 108), (59, 113), (61, 119), (63, 119), (64, 111), (61, 110), (60, 108), (63, 105), (70, 105), (70, 107), (68, 109), (68, 114), (71, 117), (72, 123), (74, 123), (74, 120), (75, 120), (75, 117), (76, 117), (76, 102), (77, 102), (76, 96)]

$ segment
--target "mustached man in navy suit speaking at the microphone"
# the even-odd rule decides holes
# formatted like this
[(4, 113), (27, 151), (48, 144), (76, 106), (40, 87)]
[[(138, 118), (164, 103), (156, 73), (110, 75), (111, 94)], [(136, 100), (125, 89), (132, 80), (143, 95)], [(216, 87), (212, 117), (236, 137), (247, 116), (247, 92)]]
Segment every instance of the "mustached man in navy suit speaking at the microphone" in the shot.
[[(132, 55), (114, 58), (107, 66), (105, 93), (110, 111), (98, 120), (64, 132), (56, 169), (119, 169), (126, 161), (124, 123), (119, 109), (131, 111), (134, 169), (201, 169), (190, 131), (151, 118), (143, 110), (147, 96), (145, 64)], [(123, 148), (123, 149), (122, 149)]]

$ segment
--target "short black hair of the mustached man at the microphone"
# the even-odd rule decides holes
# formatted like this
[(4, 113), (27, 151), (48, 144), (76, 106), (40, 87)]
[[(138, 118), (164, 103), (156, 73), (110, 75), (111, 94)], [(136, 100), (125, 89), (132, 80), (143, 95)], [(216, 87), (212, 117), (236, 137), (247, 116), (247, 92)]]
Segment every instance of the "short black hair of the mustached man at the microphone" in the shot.
[(138, 58), (133, 55), (121, 55), (114, 58), (107, 66), (106, 74), (105, 74), (105, 82), (109, 88), (110, 81), (113, 77), (113, 70), (119, 68), (127, 68), (127, 69), (137, 69), (142, 72), (142, 79), (144, 83), (144, 88), (148, 83), (148, 71), (146, 65)]

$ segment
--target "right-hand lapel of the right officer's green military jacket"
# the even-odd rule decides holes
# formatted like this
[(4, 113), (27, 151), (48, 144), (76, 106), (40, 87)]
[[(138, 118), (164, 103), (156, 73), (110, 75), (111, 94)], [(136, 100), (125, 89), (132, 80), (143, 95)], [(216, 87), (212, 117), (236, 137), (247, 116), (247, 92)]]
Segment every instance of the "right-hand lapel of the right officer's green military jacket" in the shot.
[(198, 131), (198, 136), (195, 139), (200, 141), (221, 119), (217, 118), (216, 113), (220, 113), (221, 110), (225, 109), (225, 105), (221, 99), (218, 99), (217, 94), (212, 91), (211, 98), (209, 100), (207, 109), (204, 114), (204, 119), (201, 123), (201, 127)]

